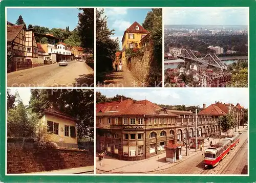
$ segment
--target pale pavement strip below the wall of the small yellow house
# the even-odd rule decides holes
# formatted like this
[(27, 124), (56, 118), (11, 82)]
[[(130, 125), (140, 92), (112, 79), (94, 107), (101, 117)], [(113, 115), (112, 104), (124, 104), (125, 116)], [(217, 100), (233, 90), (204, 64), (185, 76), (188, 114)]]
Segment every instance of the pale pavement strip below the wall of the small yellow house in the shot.
[(28, 174), (79, 174), (79, 173), (93, 174), (94, 166), (69, 168), (69, 169), (53, 170), (53, 171), (46, 171), (46, 172), (31, 172)]

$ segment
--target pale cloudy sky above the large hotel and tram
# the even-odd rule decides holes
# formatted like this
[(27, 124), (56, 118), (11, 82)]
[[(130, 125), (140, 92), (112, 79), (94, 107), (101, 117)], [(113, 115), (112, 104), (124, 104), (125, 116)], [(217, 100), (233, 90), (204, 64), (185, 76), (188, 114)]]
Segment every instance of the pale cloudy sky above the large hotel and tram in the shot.
[(148, 100), (165, 105), (209, 106), (215, 101), (248, 108), (248, 88), (159, 88), (159, 89), (96, 89), (106, 97), (124, 95), (135, 100)]

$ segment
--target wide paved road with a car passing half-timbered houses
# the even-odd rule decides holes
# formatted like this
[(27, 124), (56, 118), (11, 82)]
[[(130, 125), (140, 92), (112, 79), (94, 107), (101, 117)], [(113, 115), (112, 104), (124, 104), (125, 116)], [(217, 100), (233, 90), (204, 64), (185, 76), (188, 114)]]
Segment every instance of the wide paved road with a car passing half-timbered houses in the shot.
[(68, 66), (57, 63), (38, 66), (7, 74), (8, 87), (61, 87), (93, 86), (93, 70), (86, 63), (79, 61), (68, 62)]

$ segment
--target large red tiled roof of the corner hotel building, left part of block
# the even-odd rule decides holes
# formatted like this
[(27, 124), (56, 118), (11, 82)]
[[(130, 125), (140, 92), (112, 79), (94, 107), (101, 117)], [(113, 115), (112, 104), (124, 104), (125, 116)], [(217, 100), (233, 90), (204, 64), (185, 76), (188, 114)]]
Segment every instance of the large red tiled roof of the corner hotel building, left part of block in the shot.
[[(105, 115), (158, 115), (157, 110), (161, 107), (147, 101), (134, 101), (131, 99), (123, 100), (122, 102), (106, 102), (96, 104), (96, 112), (104, 112)], [(177, 116), (172, 112), (168, 112), (168, 116)]]

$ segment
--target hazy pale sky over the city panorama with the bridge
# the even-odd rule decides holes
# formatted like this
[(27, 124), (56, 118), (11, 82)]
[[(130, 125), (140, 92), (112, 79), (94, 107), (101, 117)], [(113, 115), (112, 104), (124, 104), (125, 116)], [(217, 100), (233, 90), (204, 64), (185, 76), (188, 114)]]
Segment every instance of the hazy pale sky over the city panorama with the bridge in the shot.
[(164, 25), (248, 25), (248, 8), (164, 8)]

